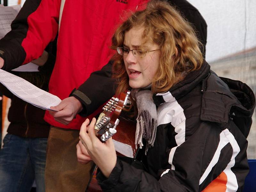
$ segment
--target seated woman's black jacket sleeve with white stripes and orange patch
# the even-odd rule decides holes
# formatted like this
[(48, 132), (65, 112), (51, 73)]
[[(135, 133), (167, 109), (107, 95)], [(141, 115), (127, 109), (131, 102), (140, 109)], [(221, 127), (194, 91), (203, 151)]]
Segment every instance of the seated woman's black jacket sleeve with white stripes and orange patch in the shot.
[(108, 179), (99, 172), (97, 180), (103, 191), (112, 192), (222, 191), (221, 187), (226, 191), (228, 185), (241, 191), (248, 173), (246, 147), (246, 139), (233, 122), (223, 129), (216, 123), (202, 123), (180, 146), (167, 147), (162, 164), (167, 161), (169, 166), (158, 170), (158, 177), (118, 160)]

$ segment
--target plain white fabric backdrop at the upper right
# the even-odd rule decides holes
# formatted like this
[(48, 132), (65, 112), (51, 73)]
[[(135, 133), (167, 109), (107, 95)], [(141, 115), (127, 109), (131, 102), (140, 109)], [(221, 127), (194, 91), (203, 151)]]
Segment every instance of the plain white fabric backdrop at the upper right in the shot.
[(256, 47), (255, 0), (188, 0), (208, 25), (208, 62)]

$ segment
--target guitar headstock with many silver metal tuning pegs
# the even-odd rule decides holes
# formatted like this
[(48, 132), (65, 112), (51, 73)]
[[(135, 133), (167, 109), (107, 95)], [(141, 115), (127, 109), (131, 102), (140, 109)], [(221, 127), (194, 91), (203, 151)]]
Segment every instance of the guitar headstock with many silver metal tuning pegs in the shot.
[(96, 124), (95, 131), (102, 135), (102, 141), (108, 140), (116, 133), (116, 127), (119, 123), (119, 115), (122, 109), (129, 102), (130, 91), (122, 92), (119, 97), (112, 97), (108, 103), (102, 108), (103, 112), (100, 114)]

